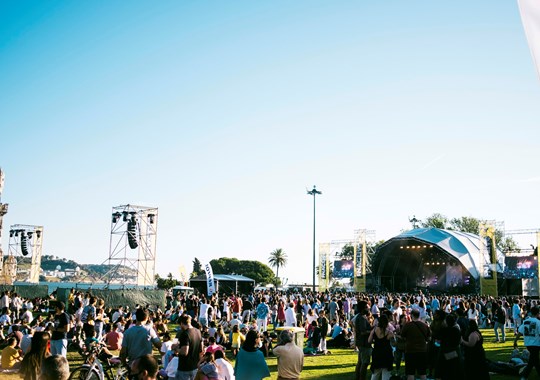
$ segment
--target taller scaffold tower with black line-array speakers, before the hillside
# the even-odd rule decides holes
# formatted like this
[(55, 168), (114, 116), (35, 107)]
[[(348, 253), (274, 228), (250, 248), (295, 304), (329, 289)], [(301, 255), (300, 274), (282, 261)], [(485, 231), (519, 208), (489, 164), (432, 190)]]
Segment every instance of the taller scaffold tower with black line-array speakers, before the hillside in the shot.
[(152, 286), (156, 271), (158, 209), (135, 205), (112, 208), (108, 284)]

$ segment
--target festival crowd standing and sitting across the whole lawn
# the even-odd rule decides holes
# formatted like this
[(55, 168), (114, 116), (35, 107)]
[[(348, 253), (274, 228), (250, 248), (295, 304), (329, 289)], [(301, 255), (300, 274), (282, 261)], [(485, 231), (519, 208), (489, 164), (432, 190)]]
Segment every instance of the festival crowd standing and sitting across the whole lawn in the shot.
[[(271, 355), (277, 357), (278, 379), (297, 379), (305, 355), (328, 355), (337, 347), (357, 351), (360, 380), (388, 380), (403, 368), (409, 380), (488, 379), (480, 328), (493, 328), (500, 342), (512, 329), (516, 345), (524, 336), (530, 359), (521, 376), (540, 370), (538, 307), (519, 297), (181, 293), (167, 297), (166, 305), (130, 309), (77, 291), (67, 305), (4, 292), (0, 305), (2, 370), (32, 380), (63, 379), (48, 375), (52, 364), (46, 363), (69, 374), (68, 348), (84, 352), (95, 345), (102, 347), (103, 360), (118, 354), (138, 379), (263, 379), (270, 376)], [(172, 324), (178, 328), (170, 330)], [(295, 344), (298, 333), (306, 342), (301, 346)]]

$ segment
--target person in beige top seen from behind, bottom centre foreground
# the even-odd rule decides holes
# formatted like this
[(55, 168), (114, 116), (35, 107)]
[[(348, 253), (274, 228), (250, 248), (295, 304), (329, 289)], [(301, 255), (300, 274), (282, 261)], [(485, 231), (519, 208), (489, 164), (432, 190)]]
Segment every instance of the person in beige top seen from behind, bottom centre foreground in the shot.
[(293, 333), (283, 330), (272, 350), (278, 361), (278, 380), (299, 379), (304, 367), (304, 351), (293, 342)]

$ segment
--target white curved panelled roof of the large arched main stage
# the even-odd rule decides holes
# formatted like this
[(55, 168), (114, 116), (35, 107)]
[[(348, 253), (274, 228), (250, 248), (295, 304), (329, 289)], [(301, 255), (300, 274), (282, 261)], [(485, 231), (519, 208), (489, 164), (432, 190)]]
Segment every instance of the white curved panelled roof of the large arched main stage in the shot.
[[(400, 250), (402, 243), (407, 241), (436, 246), (458, 259), (475, 279), (480, 278), (479, 270), (483, 261), (480, 257), (480, 244), (485, 244), (485, 240), (480, 239), (478, 235), (439, 228), (416, 228), (391, 238), (382, 244), (379, 250)], [(486, 262), (487, 260), (488, 258)], [(503, 263), (504, 255), (497, 250), (497, 272), (503, 271)]]

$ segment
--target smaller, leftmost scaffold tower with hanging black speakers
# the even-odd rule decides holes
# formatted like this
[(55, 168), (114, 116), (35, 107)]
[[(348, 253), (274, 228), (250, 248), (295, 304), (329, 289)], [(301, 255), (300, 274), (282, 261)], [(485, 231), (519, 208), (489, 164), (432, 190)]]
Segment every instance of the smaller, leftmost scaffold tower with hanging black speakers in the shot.
[[(14, 281), (39, 283), (42, 250), (43, 226), (27, 224), (10, 226), (8, 257), (3, 266), (4, 284), (11, 285)], [(30, 267), (23, 269), (23, 266), (26, 267), (27, 259), (30, 259)]]

